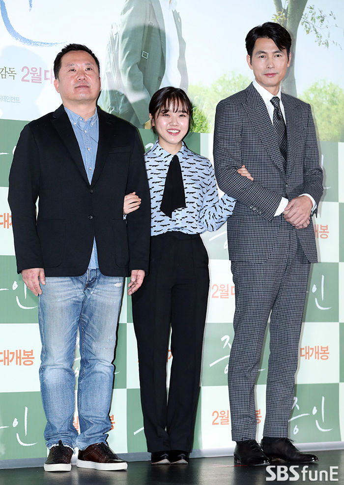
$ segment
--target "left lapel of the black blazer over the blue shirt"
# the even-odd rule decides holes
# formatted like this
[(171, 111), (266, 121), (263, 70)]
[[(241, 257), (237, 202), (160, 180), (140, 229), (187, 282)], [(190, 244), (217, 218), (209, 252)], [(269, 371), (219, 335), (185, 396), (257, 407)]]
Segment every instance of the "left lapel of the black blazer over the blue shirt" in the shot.
[(74, 163), (79, 169), (80, 174), (82, 175), (83, 179), (89, 185), (87, 180), (87, 174), (84, 166), (84, 161), (82, 154), (80, 152), (78, 140), (75, 137), (73, 127), (70, 124), (69, 118), (67, 113), (64, 110), (63, 105), (54, 112), (52, 123), (57, 130), (63, 144), (67, 148), (68, 152), (71, 154)]

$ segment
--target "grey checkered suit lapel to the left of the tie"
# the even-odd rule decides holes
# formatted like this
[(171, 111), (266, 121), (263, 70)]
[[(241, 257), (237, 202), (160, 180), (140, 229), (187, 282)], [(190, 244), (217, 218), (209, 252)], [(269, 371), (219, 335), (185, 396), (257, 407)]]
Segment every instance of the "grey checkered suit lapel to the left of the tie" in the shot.
[(248, 86), (246, 92), (246, 109), (252, 124), (258, 132), (265, 150), (269, 153), (276, 165), (284, 172), (282, 155), (265, 103), (253, 84)]

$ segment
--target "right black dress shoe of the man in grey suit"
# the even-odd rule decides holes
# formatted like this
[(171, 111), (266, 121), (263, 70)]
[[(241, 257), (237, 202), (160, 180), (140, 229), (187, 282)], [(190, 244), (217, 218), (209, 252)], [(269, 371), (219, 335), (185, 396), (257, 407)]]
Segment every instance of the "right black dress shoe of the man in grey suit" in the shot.
[(314, 463), (318, 461), (318, 457), (315, 455), (309, 455), (308, 453), (301, 453), (291, 443), (289, 438), (277, 438), (272, 442), (261, 440), (262, 449), (270, 460), (274, 458), (280, 458), (285, 461), (294, 463)]

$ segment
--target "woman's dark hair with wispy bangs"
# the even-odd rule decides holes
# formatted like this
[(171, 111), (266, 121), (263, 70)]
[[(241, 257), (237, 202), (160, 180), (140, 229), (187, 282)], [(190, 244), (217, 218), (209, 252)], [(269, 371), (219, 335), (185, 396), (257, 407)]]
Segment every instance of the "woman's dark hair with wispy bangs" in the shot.
[[(149, 114), (152, 115), (154, 119), (156, 114), (167, 112), (170, 105), (172, 105), (172, 110), (174, 112), (178, 111), (178, 108), (181, 107), (181, 109), (189, 115), (189, 128), (186, 133), (187, 135), (189, 131), (192, 130), (194, 125), (192, 116), (193, 107), (186, 92), (182, 89), (168, 86), (167, 88), (161, 88), (156, 91), (149, 103)], [(152, 126), (152, 130), (154, 133), (156, 133), (155, 126)]]

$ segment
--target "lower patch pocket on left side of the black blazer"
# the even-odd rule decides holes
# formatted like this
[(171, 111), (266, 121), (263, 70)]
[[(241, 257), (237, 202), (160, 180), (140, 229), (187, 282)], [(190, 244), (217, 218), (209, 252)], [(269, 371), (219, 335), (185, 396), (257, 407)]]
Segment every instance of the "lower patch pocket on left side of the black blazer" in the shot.
[(65, 249), (65, 219), (38, 219), (37, 233), (44, 267), (59, 266)]

